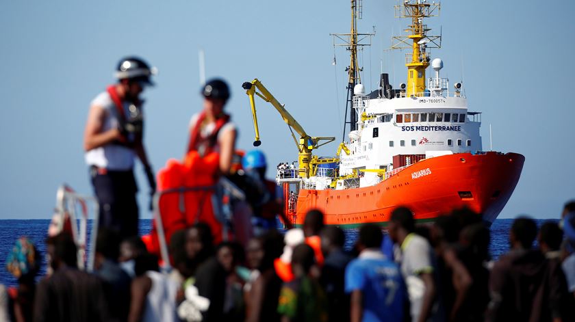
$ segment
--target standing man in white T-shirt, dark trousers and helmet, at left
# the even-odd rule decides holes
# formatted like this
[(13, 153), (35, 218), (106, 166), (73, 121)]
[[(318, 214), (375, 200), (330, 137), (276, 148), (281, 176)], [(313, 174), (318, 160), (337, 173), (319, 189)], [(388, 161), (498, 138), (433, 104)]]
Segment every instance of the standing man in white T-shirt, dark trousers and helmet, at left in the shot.
[(155, 193), (155, 179), (142, 142), (140, 94), (153, 85), (150, 68), (138, 57), (121, 59), (110, 85), (90, 105), (84, 150), (92, 185), (99, 202), (99, 224), (116, 230), (123, 239), (138, 234), (138, 204), (134, 159), (138, 157)]

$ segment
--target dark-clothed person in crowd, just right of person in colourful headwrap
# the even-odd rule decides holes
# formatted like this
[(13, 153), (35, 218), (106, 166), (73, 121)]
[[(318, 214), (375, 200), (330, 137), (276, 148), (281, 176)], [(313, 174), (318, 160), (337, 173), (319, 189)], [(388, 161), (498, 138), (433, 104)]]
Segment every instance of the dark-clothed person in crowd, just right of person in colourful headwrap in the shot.
[(36, 289), (34, 321), (110, 321), (102, 284), (77, 269), (77, 248), (68, 234), (47, 240), (54, 273)]

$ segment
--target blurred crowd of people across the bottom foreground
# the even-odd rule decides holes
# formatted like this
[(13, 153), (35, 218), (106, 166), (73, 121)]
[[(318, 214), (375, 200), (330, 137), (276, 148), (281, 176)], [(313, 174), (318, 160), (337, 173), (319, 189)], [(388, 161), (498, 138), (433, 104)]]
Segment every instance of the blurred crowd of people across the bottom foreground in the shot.
[[(138, 237), (101, 229), (94, 271), (78, 269), (66, 231), (49, 237), (51, 270), (29, 239), (7, 260), (18, 286), (2, 294), (7, 321), (575, 321), (575, 202), (559, 223), (517, 217), (510, 250), (489, 256), (489, 228), (467, 209), (416, 225), (392, 212), (387, 234), (346, 235), (309, 211), (302, 228), (214, 243), (199, 222), (172, 234), (171, 271)], [(535, 243), (537, 241), (537, 243)], [(162, 264), (166, 267), (166, 263)]]

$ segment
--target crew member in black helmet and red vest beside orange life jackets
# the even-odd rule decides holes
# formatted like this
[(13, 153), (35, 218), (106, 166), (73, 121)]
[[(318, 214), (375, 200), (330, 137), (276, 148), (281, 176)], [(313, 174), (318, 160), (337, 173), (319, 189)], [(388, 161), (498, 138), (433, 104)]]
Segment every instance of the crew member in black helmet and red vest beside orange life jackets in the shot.
[(235, 124), (230, 122), (229, 115), (224, 113), (230, 96), (228, 85), (222, 79), (212, 79), (205, 83), (200, 94), (204, 97), (203, 110), (194, 114), (190, 120), (187, 152), (196, 151), (200, 157), (211, 152), (218, 153), (219, 172), (228, 174), (237, 135)]

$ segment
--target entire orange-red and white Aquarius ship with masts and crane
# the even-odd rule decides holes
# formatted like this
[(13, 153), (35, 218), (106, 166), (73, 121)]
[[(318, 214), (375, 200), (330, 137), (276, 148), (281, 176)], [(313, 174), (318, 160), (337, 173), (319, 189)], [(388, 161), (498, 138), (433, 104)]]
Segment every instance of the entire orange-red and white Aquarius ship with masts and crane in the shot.
[[(424, 23), (439, 14), (440, 3), (403, 0), (395, 5), (395, 16), (411, 21), (407, 35), (395, 36), (392, 44), (392, 49), (409, 49), (407, 81), (395, 89), (382, 73), (379, 88), (366, 92), (357, 51), (365, 45), (361, 39), (373, 34), (357, 32), (361, 0), (350, 2), (350, 33), (333, 35), (350, 51), (344, 122), (349, 132), (345, 137), (344, 129), (335, 157), (311, 155), (334, 137), (310, 137), (261, 82), (244, 83), (252, 105), (254, 145), (261, 144), (255, 94), (276, 107), (298, 145), (298, 165), (279, 165), (276, 177), (287, 218), (301, 226), (309, 210), (319, 209), (325, 224), (356, 228), (366, 223), (386, 226), (398, 206), (411, 209), (416, 222), (433, 222), (467, 208), (491, 225), (511, 197), (525, 158), (483, 150), (481, 111), (468, 109), (462, 82), (450, 88), (449, 80), (441, 77), (444, 63), (432, 60), (429, 50), (441, 47), (441, 36), (431, 36)], [(433, 75), (428, 78), (430, 66)]]

